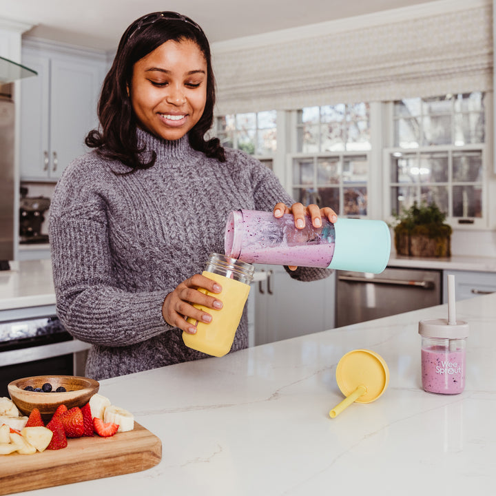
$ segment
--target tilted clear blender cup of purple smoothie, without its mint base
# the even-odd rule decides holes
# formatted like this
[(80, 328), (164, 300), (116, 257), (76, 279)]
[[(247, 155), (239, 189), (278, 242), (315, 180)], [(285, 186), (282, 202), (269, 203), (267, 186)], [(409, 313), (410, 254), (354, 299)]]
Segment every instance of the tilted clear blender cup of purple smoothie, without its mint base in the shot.
[(225, 229), (225, 254), (243, 262), (298, 267), (329, 267), (334, 254), (334, 225), (322, 218), (316, 229), (307, 218), (297, 229), (294, 217), (272, 212), (231, 212)]

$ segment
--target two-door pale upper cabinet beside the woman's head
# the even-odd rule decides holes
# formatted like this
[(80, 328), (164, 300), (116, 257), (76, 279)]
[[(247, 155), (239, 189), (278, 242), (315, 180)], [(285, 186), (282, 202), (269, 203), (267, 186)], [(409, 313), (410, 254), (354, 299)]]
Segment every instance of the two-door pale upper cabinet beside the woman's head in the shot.
[(38, 76), (21, 81), (21, 180), (56, 181), (98, 124), (105, 56), (28, 44), (22, 61)]

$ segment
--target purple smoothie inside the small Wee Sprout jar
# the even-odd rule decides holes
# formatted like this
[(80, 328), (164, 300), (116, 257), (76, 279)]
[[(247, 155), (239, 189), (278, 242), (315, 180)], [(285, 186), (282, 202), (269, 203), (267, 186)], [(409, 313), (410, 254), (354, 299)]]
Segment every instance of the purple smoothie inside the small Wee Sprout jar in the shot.
[(462, 393), (465, 387), (465, 349), (422, 348), (422, 387), (429, 393)]

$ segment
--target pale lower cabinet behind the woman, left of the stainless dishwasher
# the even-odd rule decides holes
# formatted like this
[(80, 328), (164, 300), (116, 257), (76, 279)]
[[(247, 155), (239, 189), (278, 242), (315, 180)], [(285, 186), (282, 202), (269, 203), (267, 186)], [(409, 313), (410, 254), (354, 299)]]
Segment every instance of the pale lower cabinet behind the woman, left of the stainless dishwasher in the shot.
[(267, 280), (251, 288), (256, 345), (334, 327), (335, 273), (326, 279), (302, 282), (291, 279), (278, 265), (256, 267), (267, 273)]

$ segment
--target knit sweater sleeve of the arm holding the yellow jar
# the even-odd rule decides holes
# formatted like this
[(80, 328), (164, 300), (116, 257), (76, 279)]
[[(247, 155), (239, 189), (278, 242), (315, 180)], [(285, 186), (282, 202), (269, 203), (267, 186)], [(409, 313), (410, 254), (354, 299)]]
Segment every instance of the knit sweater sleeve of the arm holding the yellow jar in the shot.
[(118, 287), (110, 253), (105, 201), (91, 172), (68, 167), (50, 207), (50, 249), (56, 310), (74, 338), (127, 346), (172, 329), (161, 313), (167, 290)]

